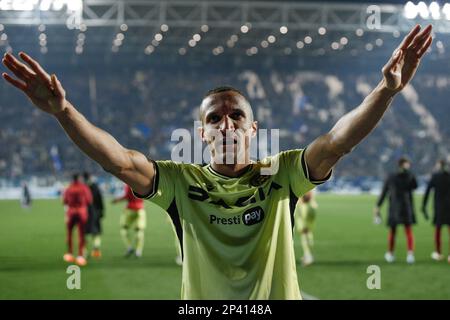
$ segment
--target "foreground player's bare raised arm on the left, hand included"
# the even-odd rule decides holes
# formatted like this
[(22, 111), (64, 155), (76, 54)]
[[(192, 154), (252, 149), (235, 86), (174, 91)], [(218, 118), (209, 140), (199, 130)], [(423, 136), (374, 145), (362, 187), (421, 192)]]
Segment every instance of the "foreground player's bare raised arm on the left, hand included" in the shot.
[(148, 194), (155, 175), (153, 165), (142, 154), (124, 148), (109, 133), (91, 124), (66, 100), (66, 92), (56, 75), (51, 76), (27, 54), (19, 53), (22, 63), (5, 54), (3, 64), (17, 77), (3, 78), (24, 92), (40, 110), (53, 115), (70, 139), (106, 171), (128, 184), (139, 194)]

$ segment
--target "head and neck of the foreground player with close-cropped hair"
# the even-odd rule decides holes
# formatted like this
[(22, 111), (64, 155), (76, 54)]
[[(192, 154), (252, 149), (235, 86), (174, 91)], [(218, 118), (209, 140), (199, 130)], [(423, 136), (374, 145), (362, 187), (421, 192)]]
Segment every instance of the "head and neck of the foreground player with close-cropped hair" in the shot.
[(233, 91), (210, 95), (200, 106), (200, 116), (201, 137), (215, 163), (243, 164), (250, 158), (250, 140), (257, 125), (244, 97)]

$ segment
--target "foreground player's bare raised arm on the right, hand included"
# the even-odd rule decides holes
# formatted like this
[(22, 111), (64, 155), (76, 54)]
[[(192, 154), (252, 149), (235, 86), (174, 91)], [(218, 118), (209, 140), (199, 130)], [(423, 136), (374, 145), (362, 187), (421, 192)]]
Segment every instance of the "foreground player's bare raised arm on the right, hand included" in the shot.
[(432, 27), (422, 32), (416, 26), (403, 39), (383, 67), (383, 79), (355, 109), (344, 115), (330, 132), (318, 137), (306, 149), (305, 160), (314, 180), (326, 178), (333, 166), (360, 143), (378, 124), (395, 94), (414, 76), (421, 58), (432, 42)]

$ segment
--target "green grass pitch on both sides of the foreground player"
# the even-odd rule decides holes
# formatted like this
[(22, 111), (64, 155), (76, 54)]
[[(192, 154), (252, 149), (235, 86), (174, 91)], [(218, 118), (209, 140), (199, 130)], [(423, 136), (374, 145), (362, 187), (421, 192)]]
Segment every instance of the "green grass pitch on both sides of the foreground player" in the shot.
[[(433, 229), (419, 212), (414, 227), (416, 263), (405, 262), (406, 239), (400, 228), (397, 260), (387, 264), (383, 260), (387, 228), (372, 224), (375, 197), (319, 194), (317, 200), (316, 263), (307, 268), (298, 264), (302, 291), (319, 299), (450, 299), (450, 264), (430, 259)], [(108, 203), (103, 257), (91, 259), (82, 269), (80, 290), (69, 290), (60, 202), (37, 200), (31, 210), (24, 210), (18, 201), (0, 201), (0, 299), (179, 299), (181, 268), (174, 262), (173, 230), (163, 211), (151, 203), (146, 209), (144, 257), (125, 259), (119, 235), (123, 205)], [(443, 231), (447, 255), (449, 235)], [(295, 249), (299, 260), (298, 235)], [(380, 267), (379, 290), (366, 286), (370, 265)]]

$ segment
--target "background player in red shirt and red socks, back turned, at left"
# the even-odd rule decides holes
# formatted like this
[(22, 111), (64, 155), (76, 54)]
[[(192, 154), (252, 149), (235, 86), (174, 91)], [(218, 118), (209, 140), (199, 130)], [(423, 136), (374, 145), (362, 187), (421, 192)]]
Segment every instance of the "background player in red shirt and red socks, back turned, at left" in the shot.
[[(92, 194), (89, 187), (79, 181), (78, 174), (72, 177), (72, 183), (64, 191), (64, 204), (67, 206), (67, 246), (68, 251), (64, 255), (66, 262), (76, 262), (80, 266), (87, 264), (84, 258), (85, 237), (84, 230), (88, 220), (88, 206), (92, 203)], [(78, 227), (78, 256), (72, 254), (72, 230)]]

